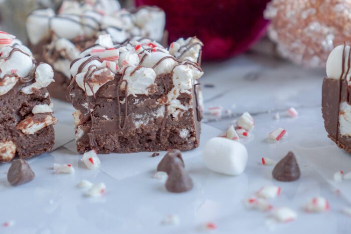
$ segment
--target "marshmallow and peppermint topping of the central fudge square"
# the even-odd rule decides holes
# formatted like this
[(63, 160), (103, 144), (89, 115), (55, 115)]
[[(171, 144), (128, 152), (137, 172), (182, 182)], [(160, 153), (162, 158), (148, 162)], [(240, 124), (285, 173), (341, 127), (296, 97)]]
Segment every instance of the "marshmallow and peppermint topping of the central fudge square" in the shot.
[(126, 96), (148, 96), (156, 91), (156, 77), (170, 74), (174, 87), (157, 102), (166, 105), (167, 112), (178, 118), (179, 114), (193, 108), (183, 105), (178, 97), (182, 93), (191, 94), (196, 80), (203, 75), (197, 63), (202, 46), (196, 37), (179, 39), (166, 49), (145, 38), (113, 45), (109, 35), (99, 36), (95, 45), (87, 48), (71, 63), (73, 79), (68, 89), (69, 95), (72, 85), (76, 83), (87, 96), (95, 97), (100, 87), (120, 77), (119, 89)]

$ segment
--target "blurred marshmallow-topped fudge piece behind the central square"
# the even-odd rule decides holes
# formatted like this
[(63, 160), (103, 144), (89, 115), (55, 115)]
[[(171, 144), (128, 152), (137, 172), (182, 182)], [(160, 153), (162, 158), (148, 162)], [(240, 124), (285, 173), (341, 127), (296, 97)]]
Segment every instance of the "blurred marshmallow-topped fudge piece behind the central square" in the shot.
[(165, 15), (157, 7), (127, 11), (115, 0), (64, 1), (56, 14), (52, 9), (36, 10), (27, 18), (30, 48), (38, 62), (54, 68), (52, 97), (66, 100), (70, 83), (70, 63), (83, 49), (94, 44), (98, 35), (110, 34), (114, 43), (134, 36), (161, 41)]

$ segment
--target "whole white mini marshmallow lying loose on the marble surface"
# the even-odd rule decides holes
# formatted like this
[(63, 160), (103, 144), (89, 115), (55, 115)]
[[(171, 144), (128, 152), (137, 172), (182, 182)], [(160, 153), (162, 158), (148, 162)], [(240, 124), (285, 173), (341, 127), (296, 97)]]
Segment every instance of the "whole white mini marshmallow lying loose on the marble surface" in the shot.
[(245, 170), (248, 155), (243, 144), (214, 137), (206, 143), (203, 158), (205, 165), (213, 171), (239, 175)]

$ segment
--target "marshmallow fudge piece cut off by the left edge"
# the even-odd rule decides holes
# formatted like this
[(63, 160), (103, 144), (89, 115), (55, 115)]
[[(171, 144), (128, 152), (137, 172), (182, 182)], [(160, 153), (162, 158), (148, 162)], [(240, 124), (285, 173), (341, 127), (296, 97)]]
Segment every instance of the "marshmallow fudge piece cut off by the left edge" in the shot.
[(0, 162), (30, 158), (53, 148), (55, 135), (46, 87), (50, 65), (37, 65), (31, 51), (14, 36), (0, 32)]

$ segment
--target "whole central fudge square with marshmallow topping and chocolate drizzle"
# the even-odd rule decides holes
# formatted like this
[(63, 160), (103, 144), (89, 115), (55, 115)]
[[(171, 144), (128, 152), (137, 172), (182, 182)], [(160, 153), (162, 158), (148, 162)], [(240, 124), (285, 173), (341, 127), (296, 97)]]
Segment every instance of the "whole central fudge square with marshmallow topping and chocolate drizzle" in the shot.
[(196, 37), (168, 49), (145, 38), (113, 46), (109, 35), (99, 36), (71, 63), (78, 152), (198, 147), (202, 46)]

